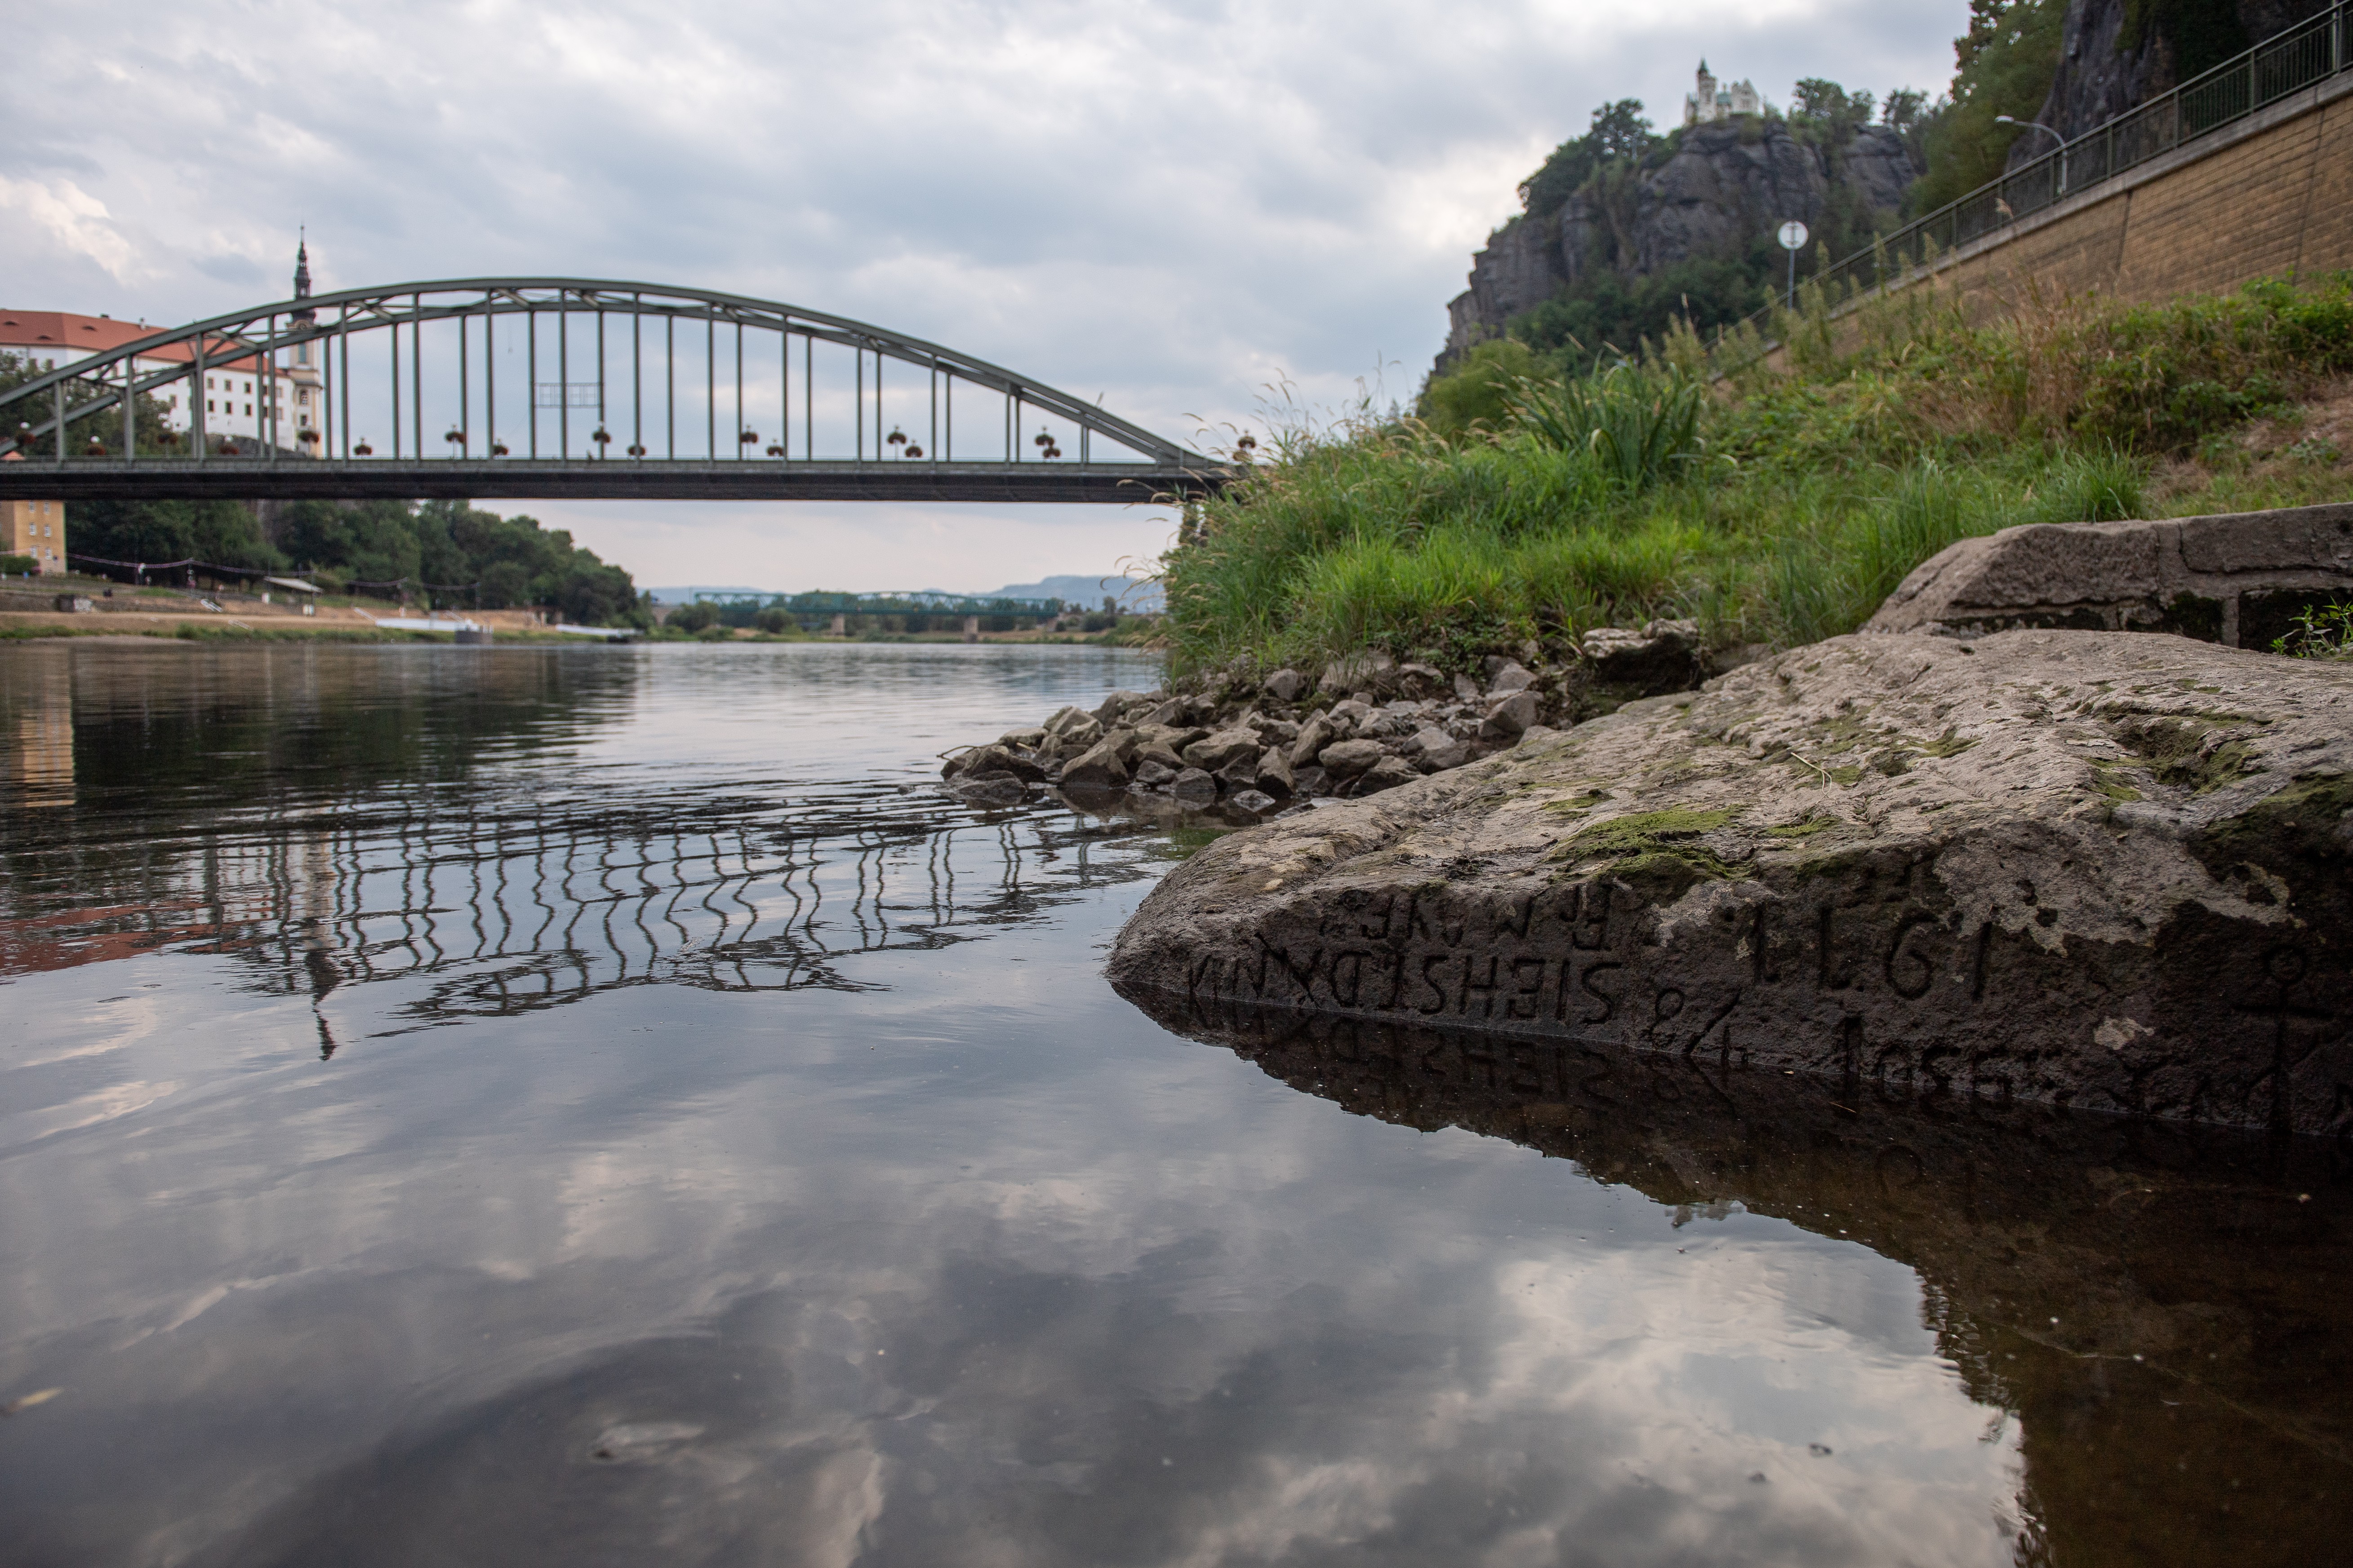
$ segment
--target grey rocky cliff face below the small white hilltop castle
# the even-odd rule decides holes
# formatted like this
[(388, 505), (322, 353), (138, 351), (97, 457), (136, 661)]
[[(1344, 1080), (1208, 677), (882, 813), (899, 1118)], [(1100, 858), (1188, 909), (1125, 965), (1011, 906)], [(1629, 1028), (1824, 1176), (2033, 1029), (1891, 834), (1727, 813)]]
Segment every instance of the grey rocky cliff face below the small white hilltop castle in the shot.
[(1739, 256), (1786, 219), (1821, 233), (1831, 209), (1894, 212), (1918, 176), (1904, 139), (1857, 127), (1835, 143), (1784, 120), (1692, 127), (1624, 188), (1579, 190), (1551, 216), (1518, 216), (1471, 259), (1471, 287), (1447, 303), (1438, 369), (1464, 348), (1605, 270), (1652, 277), (1680, 261)]

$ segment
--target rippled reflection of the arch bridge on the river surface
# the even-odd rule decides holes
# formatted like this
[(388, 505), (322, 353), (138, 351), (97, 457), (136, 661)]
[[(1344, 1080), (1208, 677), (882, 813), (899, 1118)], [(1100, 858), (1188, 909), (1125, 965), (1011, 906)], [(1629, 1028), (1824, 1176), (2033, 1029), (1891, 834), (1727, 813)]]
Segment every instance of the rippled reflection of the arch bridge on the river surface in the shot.
[[(1132, 875), (1071, 818), (944, 811), (929, 792), (711, 792), (687, 809), (381, 811), (224, 823), (136, 891), (0, 924), (0, 973), (158, 947), (231, 954), (325, 1004), (391, 985), (405, 1032), (631, 985), (866, 990), (861, 954), (1019, 924)], [(94, 891), (94, 889), (92, 889)], [(334, 1048), (327, 1016), (320, 1037)]]

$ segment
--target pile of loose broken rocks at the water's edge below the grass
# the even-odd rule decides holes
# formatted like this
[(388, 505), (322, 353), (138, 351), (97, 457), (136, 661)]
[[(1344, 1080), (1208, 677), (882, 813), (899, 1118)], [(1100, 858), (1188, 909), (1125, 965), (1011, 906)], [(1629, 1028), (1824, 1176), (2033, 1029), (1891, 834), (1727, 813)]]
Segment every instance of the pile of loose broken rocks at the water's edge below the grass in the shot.
[(953, 752), (941, 776), (984, 804), (1056, 785), (1073, 797), (1264, 813), (1289, 799), (1393, 790), (1711, 672), (1689, 621), (1600, 630), (1558, 654), (1548, 661), (1529, 642), (1518, 656), (1487, 656), (1475, 677), (1355, 654), (1320, 677), (1228, 670), (1167, 691), (1113, 691), (1094, 712), (1064, 708), (1038, 729)]

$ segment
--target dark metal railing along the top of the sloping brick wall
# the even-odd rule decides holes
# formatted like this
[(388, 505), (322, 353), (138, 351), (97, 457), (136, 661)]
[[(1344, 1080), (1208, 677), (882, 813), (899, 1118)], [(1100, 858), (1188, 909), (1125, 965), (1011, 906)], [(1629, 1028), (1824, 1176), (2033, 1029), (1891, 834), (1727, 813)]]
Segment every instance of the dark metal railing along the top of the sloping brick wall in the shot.
[[(1831, 301), (1908, 280), (1937, 256), (2353, 68), (2353, 0), (2097, 125), (1817, 273)], [(1765, 327), (1786, 301), (1748, 317)]]

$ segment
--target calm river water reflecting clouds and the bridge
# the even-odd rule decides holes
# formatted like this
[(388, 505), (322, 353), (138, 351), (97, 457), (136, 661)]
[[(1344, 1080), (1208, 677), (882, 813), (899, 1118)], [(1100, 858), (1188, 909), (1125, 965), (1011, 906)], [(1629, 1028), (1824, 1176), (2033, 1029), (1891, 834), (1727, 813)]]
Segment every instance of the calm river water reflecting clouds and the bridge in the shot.
[(2344, 1145), (1155, 1020), (932, 759), (1151, 684), (0, 646), (0, 1556), (2346, 1549)]

